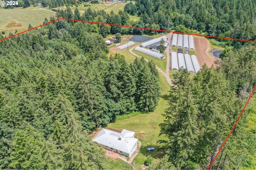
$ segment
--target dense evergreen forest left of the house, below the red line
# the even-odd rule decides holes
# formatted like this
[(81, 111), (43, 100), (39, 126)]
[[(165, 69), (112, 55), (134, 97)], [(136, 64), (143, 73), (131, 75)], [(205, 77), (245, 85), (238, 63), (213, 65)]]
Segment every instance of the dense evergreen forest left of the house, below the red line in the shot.
[(108, 169), (88, 132), (157, 106), (154, 63), (108, 58), (91, 29), (60, 20), (0, 42), (0, 169)]

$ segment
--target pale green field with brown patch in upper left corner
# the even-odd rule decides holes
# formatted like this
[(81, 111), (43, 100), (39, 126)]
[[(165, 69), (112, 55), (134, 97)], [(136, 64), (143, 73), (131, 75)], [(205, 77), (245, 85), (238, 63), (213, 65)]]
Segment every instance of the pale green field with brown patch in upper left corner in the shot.
[(5, 31), (6, 36), (15, 30), (22, 32), (28, 29), (28, 25), (32, 27), (42, 25), (44, 18), (55, 16), (54, 12), (35, 9), (0, 9), (0, 33)]

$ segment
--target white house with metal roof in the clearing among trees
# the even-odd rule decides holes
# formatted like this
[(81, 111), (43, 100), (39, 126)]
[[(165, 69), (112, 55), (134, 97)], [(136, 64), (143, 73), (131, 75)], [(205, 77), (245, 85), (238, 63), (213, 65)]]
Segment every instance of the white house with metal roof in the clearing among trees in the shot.
[(101, 144), (105, 149), (131, 156), (137, 149), (138, 139), (134, 138), (135, 132), (123, 129), (121, 133), (102, 129), (93, 141)]

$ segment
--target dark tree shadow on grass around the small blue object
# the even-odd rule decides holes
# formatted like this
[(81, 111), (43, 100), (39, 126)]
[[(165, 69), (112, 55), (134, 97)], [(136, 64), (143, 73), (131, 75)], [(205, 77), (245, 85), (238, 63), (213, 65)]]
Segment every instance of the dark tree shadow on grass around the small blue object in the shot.
[[(147, 150), (148, 148), (153, 147), (154, 150)], [(140, 148), (140, 153), (144, 156), (151, 156), (154, 159), (160, 159), (164, 156), (164, 150), (159, 145), (142, 145)]]

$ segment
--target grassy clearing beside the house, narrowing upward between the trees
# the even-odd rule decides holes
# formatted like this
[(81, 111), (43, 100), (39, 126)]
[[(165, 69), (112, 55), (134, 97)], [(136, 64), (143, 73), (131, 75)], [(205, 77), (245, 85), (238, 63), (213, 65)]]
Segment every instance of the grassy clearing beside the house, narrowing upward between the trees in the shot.
[[(153, 112), (136, 115), (108, 124), (108, 127), (113, 129), (128, 129), (136, 132), (135, 137), (142, 143), (140, 152), (133, 161), (138, 168), (144, 163), (147, 156), (152, 156), (154, 159), (163, 156), (163, 152), (158, 150), (157, 141), (163, 139), (163, 137), (158, 136), (160, 133), (159, 124), (164, 121), (162, 113), (164, 113), (164, 110), (168, 107), (166, 99), (170, 86), (162, 74), (159, 73), (159, 76), (162, 96), (158, 102), (158, 106)], [(155, 150), (149, 152), (147, 151), (148, 147), (154, 147)]]

